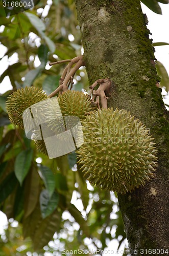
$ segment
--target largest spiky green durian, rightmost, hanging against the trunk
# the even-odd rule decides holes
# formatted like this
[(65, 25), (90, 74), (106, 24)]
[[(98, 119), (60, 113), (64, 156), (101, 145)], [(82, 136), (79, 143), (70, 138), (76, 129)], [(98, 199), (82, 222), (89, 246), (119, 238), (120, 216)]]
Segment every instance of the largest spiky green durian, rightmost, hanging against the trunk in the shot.
[(91, 184), (125, 194), (154, 177), (155, 143), (146, 126), (129, 112), (94, 111), (82, 124), (78, 162)]

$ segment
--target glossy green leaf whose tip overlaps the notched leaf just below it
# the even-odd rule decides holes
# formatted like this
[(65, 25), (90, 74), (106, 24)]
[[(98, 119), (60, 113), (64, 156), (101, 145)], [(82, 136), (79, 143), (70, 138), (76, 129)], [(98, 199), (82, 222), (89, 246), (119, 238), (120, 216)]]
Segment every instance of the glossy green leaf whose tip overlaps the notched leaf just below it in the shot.
[(55, 190), (55, 176), (49, 167), (40, 166), (39, 169), (40, 177), (44, 182), (45, 188), (49, 192), (49, 197), (51, 198)]

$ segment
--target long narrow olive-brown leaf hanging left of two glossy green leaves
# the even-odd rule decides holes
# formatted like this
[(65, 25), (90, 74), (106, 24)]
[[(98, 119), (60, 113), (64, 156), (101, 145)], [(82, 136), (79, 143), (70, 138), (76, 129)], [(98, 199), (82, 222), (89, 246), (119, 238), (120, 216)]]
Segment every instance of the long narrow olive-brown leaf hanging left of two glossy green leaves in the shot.
[(25, 182), (25, 218), (31, 215), (36, 207), (37, 201), (39, 199), (39, 185), (40, 177), (38, 175), (37, 169), (33, 166), (28, 173)]

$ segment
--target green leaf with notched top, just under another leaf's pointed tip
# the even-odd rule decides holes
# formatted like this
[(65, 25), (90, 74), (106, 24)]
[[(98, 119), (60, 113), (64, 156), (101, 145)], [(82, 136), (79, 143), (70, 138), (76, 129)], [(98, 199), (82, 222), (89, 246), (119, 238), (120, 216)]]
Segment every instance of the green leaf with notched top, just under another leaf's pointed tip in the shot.
[(54, 192), (52, 197), (49, 196), (49, 191), (47, 189), (43, 189), (40, 193), (40, 210), (42, 218), (46, 218), (51, 215), (52, 212), (57, 208), (59, 202), (59, 194)]

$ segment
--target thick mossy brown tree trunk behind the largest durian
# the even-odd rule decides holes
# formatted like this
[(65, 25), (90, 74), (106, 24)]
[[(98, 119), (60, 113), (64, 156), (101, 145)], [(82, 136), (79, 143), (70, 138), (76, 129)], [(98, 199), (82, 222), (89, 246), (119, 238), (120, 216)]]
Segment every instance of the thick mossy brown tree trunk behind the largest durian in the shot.
[(130, 111), (146, 124), (158, 148), (155, 179), (133, 193), (118, 195), (131, 253), (167, 249), (169, 115), (158, 87), (152, 41), (140, 1), (76, 0), (76, 8), (89, 83), (112, 79), (109, 106)]

